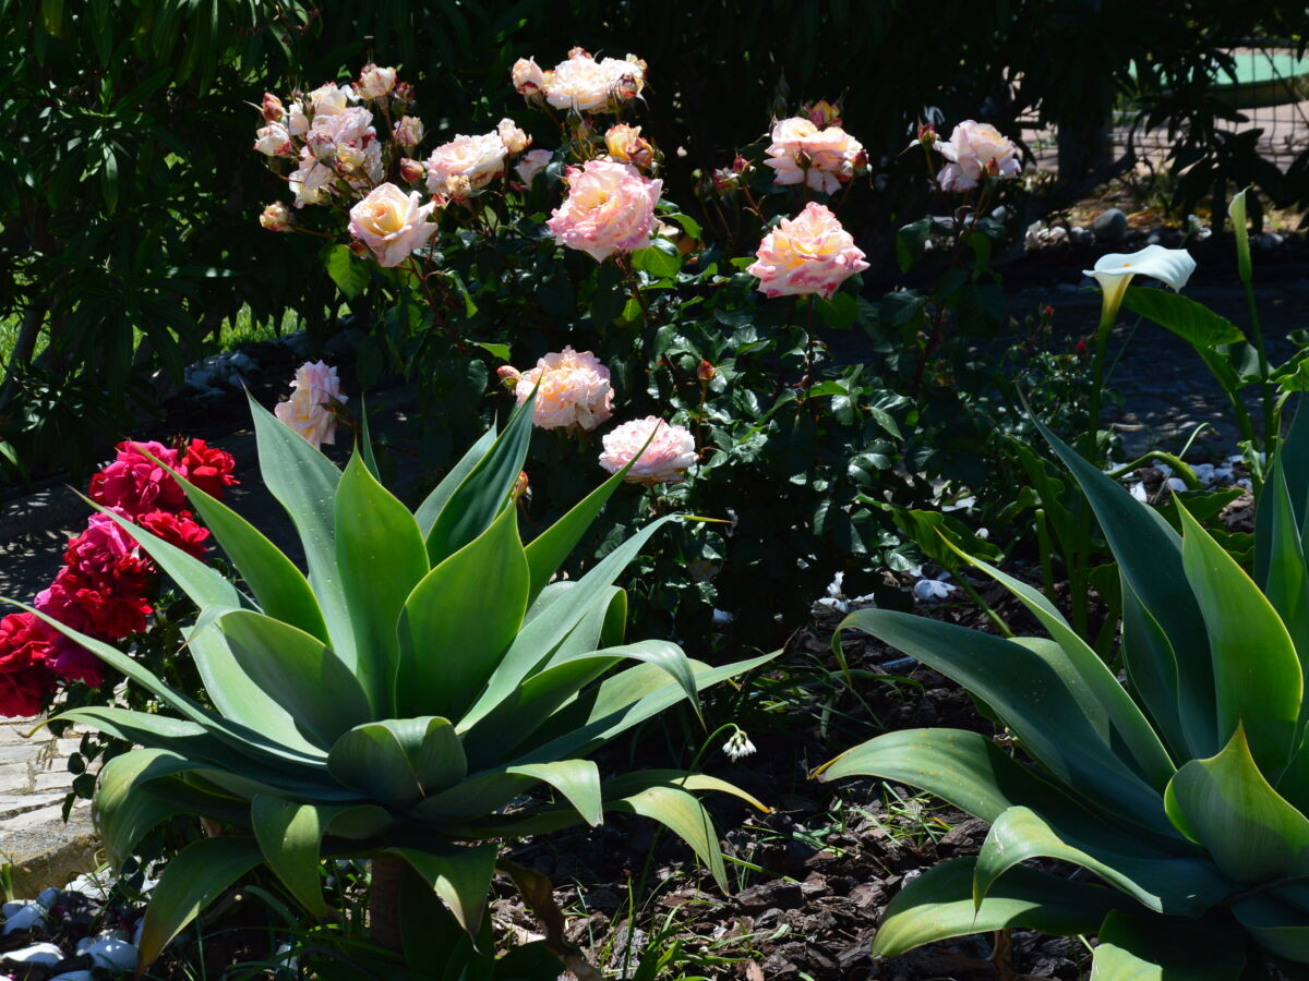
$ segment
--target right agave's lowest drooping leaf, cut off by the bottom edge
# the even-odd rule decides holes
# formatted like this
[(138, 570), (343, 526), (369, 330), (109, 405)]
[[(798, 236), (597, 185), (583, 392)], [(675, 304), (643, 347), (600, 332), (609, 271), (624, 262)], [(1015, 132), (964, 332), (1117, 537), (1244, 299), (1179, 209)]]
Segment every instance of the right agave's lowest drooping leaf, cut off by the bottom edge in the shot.
[(1090, 981), (1237, 981), (1245, 938), (1220, 917), (1124, 916), (1100, 927)]

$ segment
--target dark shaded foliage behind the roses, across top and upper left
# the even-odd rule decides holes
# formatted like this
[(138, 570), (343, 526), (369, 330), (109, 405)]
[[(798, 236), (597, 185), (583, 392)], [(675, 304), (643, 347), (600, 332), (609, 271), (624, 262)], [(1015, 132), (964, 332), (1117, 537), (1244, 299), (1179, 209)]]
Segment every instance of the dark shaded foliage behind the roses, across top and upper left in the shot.
[(1250, 150), (1212, 137), (1230, 114), (1204, 84), (1224, 46), (1300, 35), (1309, 14), (1275, 0), (937, 0), (929, 13), (922, 0), (4, 0), (0, 17), (0, 318), (17, 332), (0, 467), (12, 481), (84, 470), (243, 305), (258, 320), (295, 310), (313, 332), (330, 328), (342, 298), (315, 243), (255, 224), (276, 187), (250, 150), (245, 103), (266, 89), (399, 64), (435, 145), (505, 112), (539, 123), (508, 82), (520, 56), (632, 51), (657, 106), (641, 122), (681, 148), (668, 192), (687, 205), (695, 173), (759, 140), (770, 111), (840, 98), (884, 178), (847, 212), (876, 259), (899, 218), (923, 211), (922, 170), (899, 153), (928, 107), (946, 126), (984, 118), (1014, 136), (1025, 111), (1056, 123), (1064, 198), (1106, 164), (1103, 122), (1128, 90), (1191, 157), (1216, 148), (1204, 190), (1224, 166), (1271, 179)]

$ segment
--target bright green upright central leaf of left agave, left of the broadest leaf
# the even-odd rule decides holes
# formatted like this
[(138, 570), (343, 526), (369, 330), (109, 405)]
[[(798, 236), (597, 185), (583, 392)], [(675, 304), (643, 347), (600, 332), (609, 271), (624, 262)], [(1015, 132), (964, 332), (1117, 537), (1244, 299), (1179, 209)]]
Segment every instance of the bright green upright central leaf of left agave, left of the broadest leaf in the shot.
[(380, 717), (395, 714), (395, 621), (427, 576), (427, 548), (408, 508), (355, 454), (336, 485), (336, 566), (355, 630), (353, 674)]

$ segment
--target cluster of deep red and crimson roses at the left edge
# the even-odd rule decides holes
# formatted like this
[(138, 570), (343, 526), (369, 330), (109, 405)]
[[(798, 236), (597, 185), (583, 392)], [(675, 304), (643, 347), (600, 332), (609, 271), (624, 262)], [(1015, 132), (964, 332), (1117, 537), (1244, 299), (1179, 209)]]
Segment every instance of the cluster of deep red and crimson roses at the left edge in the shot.
[[(203, 439), (177, 447), (123, 442), (113, 463), (92, 477), (90, 497), (119, 518), (200, 557), (209, 532), (186, 510), (182, 485), (156, 460), (217, 498), (237, 483), (232, 456)], [(120, 641), (145, 629), (157, 581), (158, 570), (136, 540), (109, 514), (97, 513), (86, 530), (68, 542), (64, 568), (34, 606), (79, 633)], [(0, 715), (35, 715), (60, 679), (98, 688), (103, 681), (101, 662), (35, 613), (0, 619)]]

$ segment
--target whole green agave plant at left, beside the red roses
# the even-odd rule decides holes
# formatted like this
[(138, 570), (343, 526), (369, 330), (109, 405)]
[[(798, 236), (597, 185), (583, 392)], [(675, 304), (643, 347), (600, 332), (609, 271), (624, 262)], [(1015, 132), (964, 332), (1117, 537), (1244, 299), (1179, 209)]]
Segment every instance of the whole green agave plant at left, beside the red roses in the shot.
[[(144, 747), (111, 760), (99, 777), (93, 814), (110, 857), (122, 862), (177, 814), (233, 829), (168, 863), (145, 916), (141, 960), (152, 961), (207, 901), (260, 863), (306, 910), (327, 914), (325, 857), (373, 858), (374, 889), (411, 867), (428, 899), (439, 896), (476, 935), (499, 840), (596, 825), (615, 811), (668, 825), (723, 883), (717, 836), (692, 791), (758, 802), (675, 770), (602, 780), (586, 759), (771, 657), (709, 667), (666, 641), (623, 644), (626, 600), (613, 582), (669, 519), (581, 578), (551, 582), (623, 475), (524, 545), (512, 490), (531, 432), (530, 402), (412, 513), (378, 483), (367, 437), (343, 472), (253, 399), (251, 411), (263, 479), (296, 526), (308, 576), (185, 480), (247, 591), (120, 521), (199, 607), (186, 650), (212, 708), (48, 621), (175, 713), (60, 715)], [(538, 785), (555, 799), (524, 798)], [(520, 806), (505, 812), (511, 802)], [(539, 889), (525, 870), (508, 870)], [(374, 934), (381, 926), (374, 922)]]

